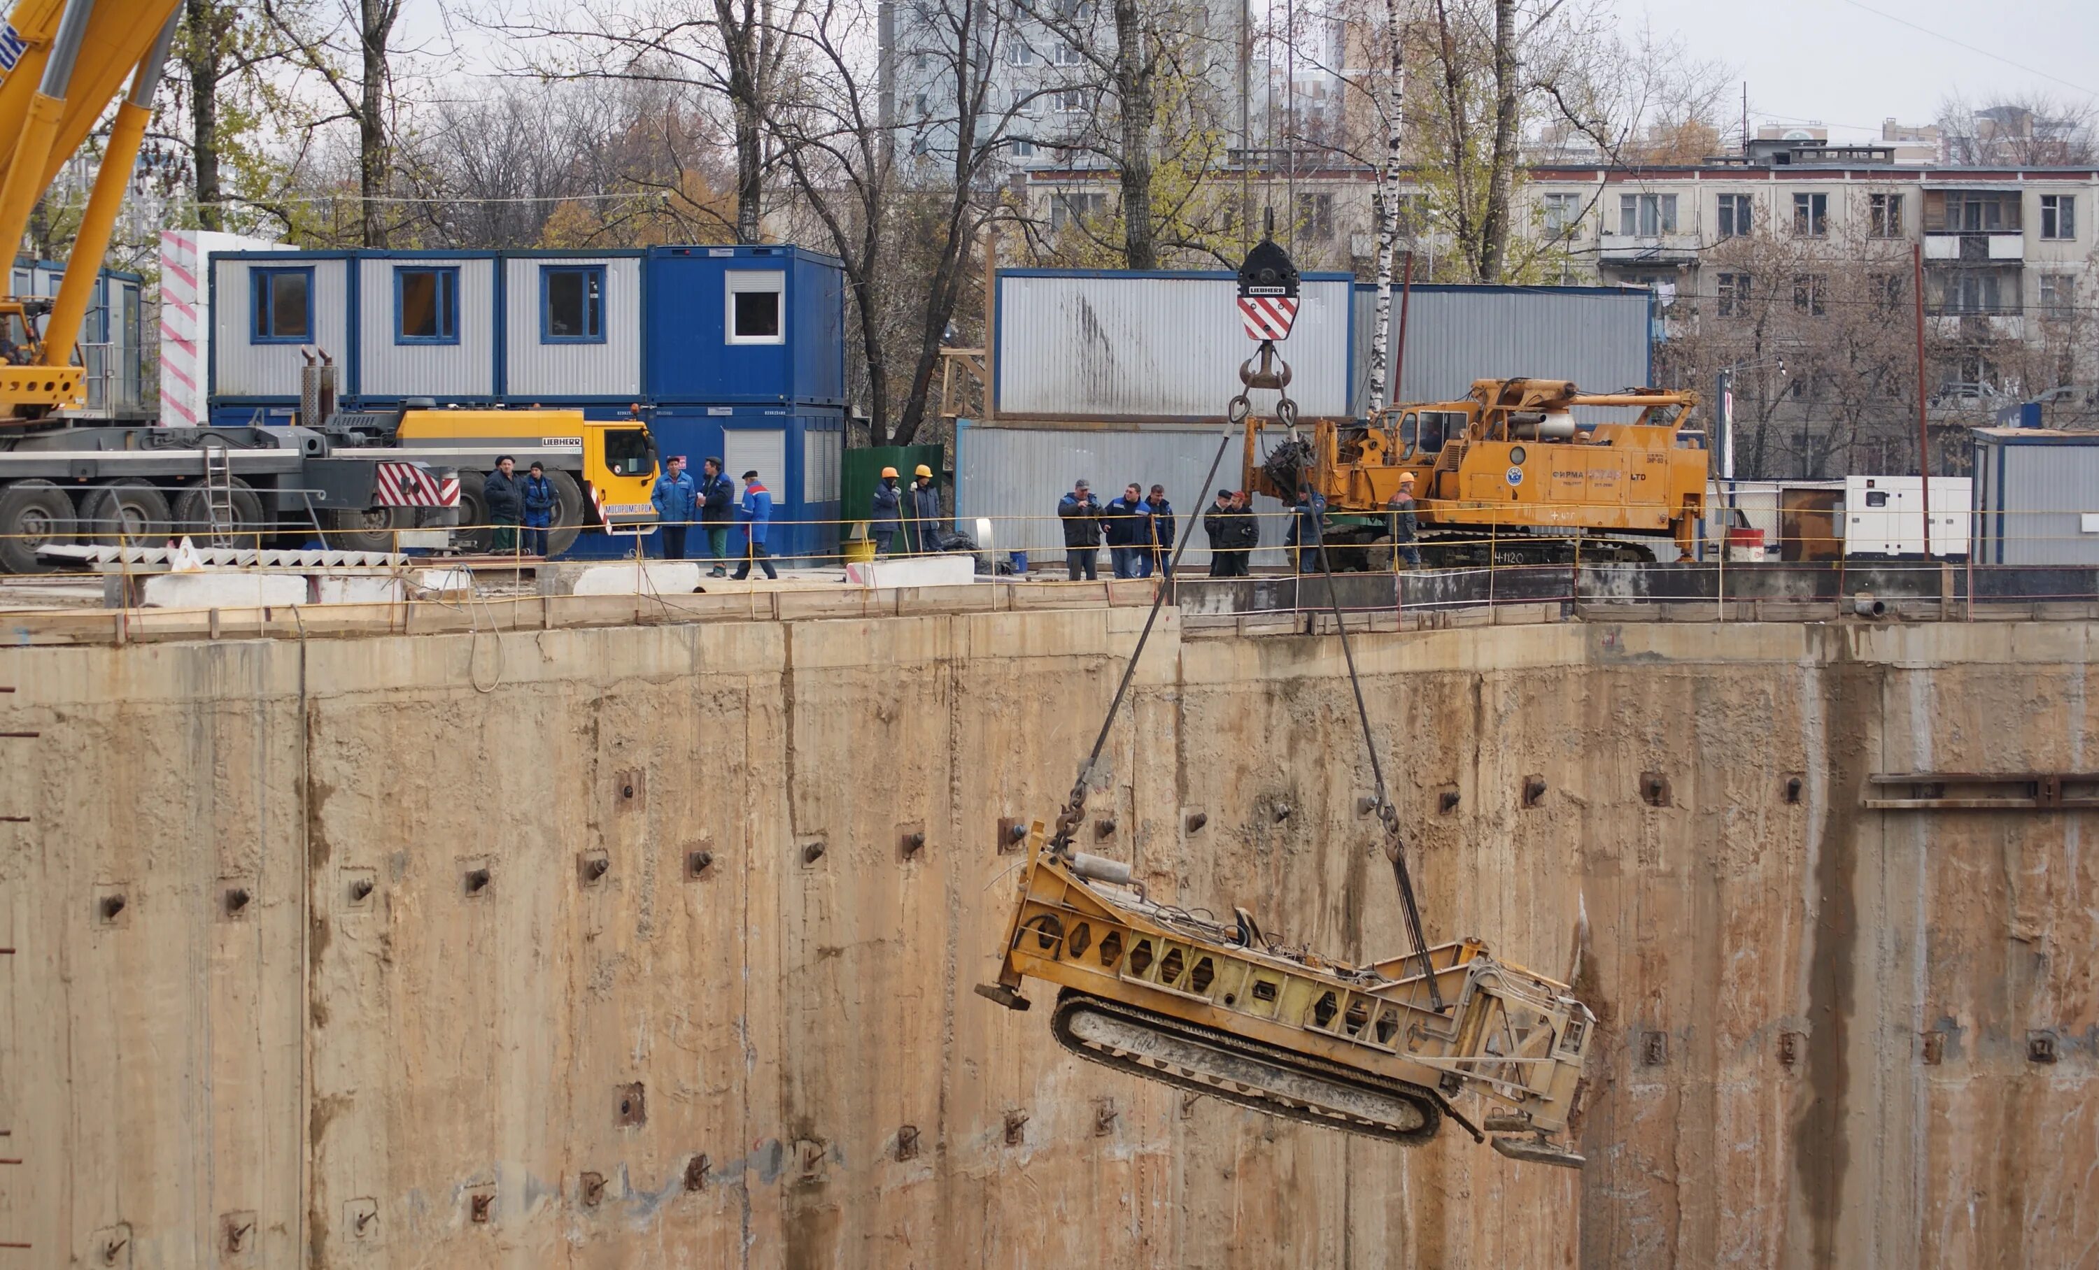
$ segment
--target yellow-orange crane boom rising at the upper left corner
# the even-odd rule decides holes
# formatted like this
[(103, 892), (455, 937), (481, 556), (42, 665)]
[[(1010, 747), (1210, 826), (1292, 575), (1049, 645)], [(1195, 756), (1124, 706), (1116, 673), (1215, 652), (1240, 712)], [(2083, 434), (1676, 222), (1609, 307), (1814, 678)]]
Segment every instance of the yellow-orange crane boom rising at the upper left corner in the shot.
[(80, 321), (178, 21), (176, 0), (23, 0), (0, 29), (0, 244), (21, 244), (38, 199), (130, 76), (44, 330), (36, 319), (46, 302), (0, 298), (0, 424), (29, 424), (84, 401), (71, 363)]

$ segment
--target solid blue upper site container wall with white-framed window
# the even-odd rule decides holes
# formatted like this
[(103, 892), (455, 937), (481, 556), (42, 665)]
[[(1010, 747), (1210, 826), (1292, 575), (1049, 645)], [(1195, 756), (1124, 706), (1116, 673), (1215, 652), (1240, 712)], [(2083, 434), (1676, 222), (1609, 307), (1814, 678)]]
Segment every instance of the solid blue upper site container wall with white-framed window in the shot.
[(802, 248), (649, 248), (649, 401), (844, 405), (846, 275)]

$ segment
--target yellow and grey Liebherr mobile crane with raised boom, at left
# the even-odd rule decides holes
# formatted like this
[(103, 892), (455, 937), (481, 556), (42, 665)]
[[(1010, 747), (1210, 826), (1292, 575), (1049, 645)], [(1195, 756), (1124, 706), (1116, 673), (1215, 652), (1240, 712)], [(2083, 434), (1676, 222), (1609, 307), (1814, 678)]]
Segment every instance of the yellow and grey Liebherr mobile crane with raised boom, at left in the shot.
[[(544, 460), (558, 508), (552, 548), (581, 527), (655, 521), (657, 453), (636, 420), (575, 409), (338, 414), (334, 367), (309, 355), (296, 426), (78, 424), (73, 365), (139, 143), (153, 113), (176, 0), (21, 0), (0, 27), (0, 244), (21, 244), (36, 202), (122, 90), (94, 187), (55, 298), (0, 298), (0, 571), (52, 567), (44, 548), (82, 537), (151, 544), (197, 535), (258, 546), (313, 533), (388, 550), (395, 529), (487, 518), (481, 472), (500, 451)], [(128, 88), (126, 88), (128, 78)], [(319, 351), (315, 351), (319, 353)], [(455, 535), (466, 548), (476, 531)]]

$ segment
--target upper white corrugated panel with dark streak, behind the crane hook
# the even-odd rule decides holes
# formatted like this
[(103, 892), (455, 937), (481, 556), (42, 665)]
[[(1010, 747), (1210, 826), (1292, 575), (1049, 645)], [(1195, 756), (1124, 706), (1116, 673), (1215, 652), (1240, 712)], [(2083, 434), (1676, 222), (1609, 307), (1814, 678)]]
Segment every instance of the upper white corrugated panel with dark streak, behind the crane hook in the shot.
[[(1348, 409), (1350, 281), (1312, 279), (1291, 338), (1291, 397), (1303, 416)], [(999, 275), (997, 414), (1010, 418), (1224, 418), (1255, 342), (1238, 285), (1215, 275), (1014, 271)], [(1253, 395), (1259, 411), (1274, 393)]]

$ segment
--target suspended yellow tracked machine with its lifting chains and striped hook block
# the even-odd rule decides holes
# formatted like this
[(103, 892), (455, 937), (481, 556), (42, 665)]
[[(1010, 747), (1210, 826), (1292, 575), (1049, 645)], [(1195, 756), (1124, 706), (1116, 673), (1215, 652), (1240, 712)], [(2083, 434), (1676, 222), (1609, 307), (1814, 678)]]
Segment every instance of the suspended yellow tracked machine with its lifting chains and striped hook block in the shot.
[[(1291, 426), (1297, 418), (1289, 399), (1291, 372), (1274, 342), (1289, 336), (1297, 269), (1274, 241), (1261, 239), (1238, 271), (1238, 294), (1247, 334), (1259, 340), (1238, 378), (1245, 388), (1278, 390), (1276, 420)], [(1259, 430), (1251, 414), (1245, 390), (1226, 407), (1230, 426), (1245, 426), (1249, 439)], [(1230, 445), (1228, 430), (1201, 489), (1213, 485)], [(1175, 567), (1188, 537), (1173, 548)], [(1324, 542), (1316, 552), (1333, 600)], [(1400, 890), (1411, 953), (1352, 966), (1291, 949), (1266, 938), (1245, 909), (1234, 909), (1234, 922), (1224, 926), (1161, 905), (1133, 880), (1129, 865), (1073, 848), (1108, 728), (1129, 695), (1167, 590), (1161, 586), (1152, 598), (1056, 831), (1045, 833), (1037, 823), (1026, 835), (1029, 865), (999, 953), (999, 976), (976, 991), (1008, 1010), (1029, 1010), (1031, 1001), (1020, 995), (1029, 978), (1056, 985), (1050, 1026), (1058, 1043), (1091, 1062), (1180, 1089), (1387, 1142), (1427, 1142), (1450, 1117), (1476, 1140), (1494, 1134), (1494, 1150), (1511, 1159), (1578, 1167), (1581, 1155), (1560, 1136), (1574, 1115), (1595, 1016), (1564, 982), (1497, 961), (1480, 940), (1429, 947), (1423, 938), (1398, 808), (1385, 796), (1339, 607), (1335, 632), (1375, 779), (1369, 808), (1385, 829), (1385, 859)], [(1450, 1104), (1467, 1092), (1490, 1104), (1480, 1123)]]

